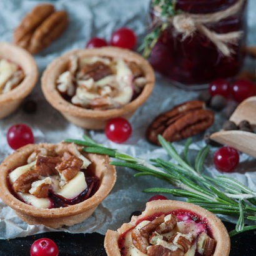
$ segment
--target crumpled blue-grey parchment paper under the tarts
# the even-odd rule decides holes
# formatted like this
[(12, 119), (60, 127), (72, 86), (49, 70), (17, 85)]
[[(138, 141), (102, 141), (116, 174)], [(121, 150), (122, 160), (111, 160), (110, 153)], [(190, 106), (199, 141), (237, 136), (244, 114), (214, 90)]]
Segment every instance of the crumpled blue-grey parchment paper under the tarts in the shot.
[[(0, 35), (1, 41), (12, 41), (12, 32), (19, 24), (22, 17), (31, 11), (32, 7), (41, 1), (35, 0), (0, 0)], [(82, 48), (86, 42), (93, 36), (105, 37), (110, 39), (112, 31), (115, 29), (128, 26), (135, 30), (136, 34), (141, 38), (145, 32), (148, 21), (148, 7), (150, 0), (59, 0), (51, 1), (56, 9), (66, 9), (69, 12), (70, 23), (67, 31), (55, 41), (50, 47), (35, 56), (39, 71), (46, 68), (54, 58), (61, 56), (64, 52), (71, 49)], [(256, 42), (256, 1), (249, 0), (249, 44)], [(247, 70), (254, 72), (255, 62), (247, 59), (245, 62)], [(170, 81), (164, 77), (157, 76), (154, 92), (150, 99), (140, 107), (130, 120), (133, 127), (133, 133), (125, 144), (114, 144), (106, 139), (103, 132), (86, 131), (79, 127), (69, 124), (64, 117), (53, 109), (44, 99), (42, 95), (40, 82), (37, 83), (36, 89), (29, 96), (37, 102), (38, 109), (36, 114), (26, 114), (20, 108), (11, 116), (0, 121), (0, 162), (12, 150), (7, 145), (6, 133), (7, 129), (13, 124), (25, 123), (32, 127), (36, 142), (59, 142), (68, 137), (81, 139), (82, 134), (91, 135), (92, 139), (97, 140), (109, 147), (114, 147), (136, 155), (150, 159), (152, 157), (164, 157), (164, 150), (160, 147), (149, 144), (144, 137), (145, 129), (152, 119), (160, 112), (171, 109), (176, 104), (195, 99), (197, 92), (187, 92), (172, 86)], [(216, 114), (216, 121), (211, 130), (220, 129), (224, 120), (222, 113)], [(200, 149), (204, 142), (203, 135), (194, 138), (192, 144), (192, 152)], [(176, 142), (175, 147), (180, 152), (184, 147), (184, 141)], [(212, 148), (210, 157), (207, 159), (206, 167), (210, 175), (218, 175), (212, 163), (212, 155), (216, 149)], [(241, 155), (242, 163), (239, 165), (238, 172), (227, 174), (240, 180), (250, 189), (255, 190), (255, 164), (256, 160)], [(246, 161), (246, 162), (245, 162)], [(134, 178), (134, 170), (117, 168), (117, 182), (111, 194), (97, 207), (94, 214), (81, 224), (72, 227), (63, 227), (64, 230), (72, 233), (79, 232), (99, 232), (105, 234), (107, 229), (115, 230), (121, 226), (123, 222), (129, 222), (129, 215), (134, 210), (143, 210), (145, 202), (151, 197), (151, 194), (141, 192), (142, 189), (148, 187), (169, 187), (170, 185), (162, 180), (153, 177), (137, 177)], [(172, 195), (167, 195), (169, 199), (177, 199)], [(184, 199), (181, 199), (184, 200)], [(232, 218), (227, 220), (233, 221)], [(52, 231), (41, 225), (27, 225), (22, 222), (14, 210), (7, 207), (0, 200), (0, 239), (11, 239), (14, 237), (24, 237), (27, 235), (37, 234), (40, 232)]]

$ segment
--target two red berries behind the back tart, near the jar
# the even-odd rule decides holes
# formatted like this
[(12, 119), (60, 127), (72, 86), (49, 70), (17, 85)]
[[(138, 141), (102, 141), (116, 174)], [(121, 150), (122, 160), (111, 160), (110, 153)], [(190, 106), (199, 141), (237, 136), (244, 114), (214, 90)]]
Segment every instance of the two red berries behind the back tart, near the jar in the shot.
[[(128, 27), (121, 27), (117, 31), (114, 31), (111, 36), (110, 45), (117, 46), (121, 48), (126, 48), (132, 50), (137, 42), (137, 37)], [(97, 47), (104, 47), (108, 46), (108, 42), (105, 39), (100, 37), (92, 37), (92, 39), (87, 42), (87, 48), (97, 48)]]

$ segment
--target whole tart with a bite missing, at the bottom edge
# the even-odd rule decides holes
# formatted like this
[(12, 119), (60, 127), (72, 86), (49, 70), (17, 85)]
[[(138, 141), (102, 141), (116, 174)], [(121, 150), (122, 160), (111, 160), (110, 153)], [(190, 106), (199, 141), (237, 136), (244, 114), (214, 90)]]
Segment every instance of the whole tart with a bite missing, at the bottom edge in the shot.
[(224, 224), (208, 210), (155, 200), (117, 231), (107, 230), (104, 246), (109, 256), (227, 256), (230, 238)]

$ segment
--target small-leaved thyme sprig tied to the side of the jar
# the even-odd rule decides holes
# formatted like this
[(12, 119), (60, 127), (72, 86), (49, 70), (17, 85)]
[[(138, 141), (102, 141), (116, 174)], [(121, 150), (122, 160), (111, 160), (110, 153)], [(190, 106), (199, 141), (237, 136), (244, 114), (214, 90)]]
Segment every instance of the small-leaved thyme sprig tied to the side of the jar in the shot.
[(152, 7), (158, 7), (159, 12), (157, 12), (161, 22), (152, 22), (151, 31), (145, 36), (144, 41), (139, 47), (139, 51), (145, 58), (150, 56), (152, 49), (157, 43), (162, 32), (167, 28), (168, 22), (167, 18), (179, 14), (181, 11), (176, 10), (176, 0), (153, 0)]

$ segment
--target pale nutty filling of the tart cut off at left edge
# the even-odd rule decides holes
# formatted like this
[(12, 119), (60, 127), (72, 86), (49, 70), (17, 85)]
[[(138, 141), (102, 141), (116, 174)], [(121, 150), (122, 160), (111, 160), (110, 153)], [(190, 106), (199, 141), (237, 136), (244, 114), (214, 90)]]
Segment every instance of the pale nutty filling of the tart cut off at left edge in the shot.
[(24, 77), (21, 67), (14, 62), (0, 58), (0, 94), (5, 94), (17, 87)]

